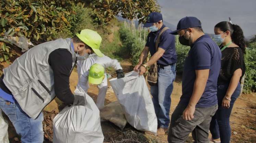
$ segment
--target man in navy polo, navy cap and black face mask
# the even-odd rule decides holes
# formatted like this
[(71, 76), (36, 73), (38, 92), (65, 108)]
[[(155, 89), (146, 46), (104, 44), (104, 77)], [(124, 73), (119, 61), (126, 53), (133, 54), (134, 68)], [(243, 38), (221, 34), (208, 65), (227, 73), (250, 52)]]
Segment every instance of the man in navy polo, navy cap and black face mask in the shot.
[(182, 18), (177, 30), (182, 45), (190, 46), (182, 75), (182, 96), (171, 117), (169, 143), (183, 143), (188, 135), (197, 143), (208, 143), (211, 117), (218, 109), (217, 79), (221, 51), (205, 35), (196, 17)]

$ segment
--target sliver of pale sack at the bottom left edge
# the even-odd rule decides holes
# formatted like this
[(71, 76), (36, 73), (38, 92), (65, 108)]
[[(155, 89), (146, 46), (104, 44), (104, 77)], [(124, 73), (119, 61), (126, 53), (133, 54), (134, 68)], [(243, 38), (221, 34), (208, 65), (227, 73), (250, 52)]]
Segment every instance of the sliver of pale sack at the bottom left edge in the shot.
[(9, 143), (8, 122), (4, 120), (1, 109), (0, 109), (0, 143)]

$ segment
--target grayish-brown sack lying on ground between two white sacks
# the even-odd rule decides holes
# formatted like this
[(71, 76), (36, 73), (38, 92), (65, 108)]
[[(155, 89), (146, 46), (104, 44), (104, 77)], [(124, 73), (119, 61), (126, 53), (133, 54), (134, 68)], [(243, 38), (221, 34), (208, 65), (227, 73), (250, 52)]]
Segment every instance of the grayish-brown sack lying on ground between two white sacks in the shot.
[(101, 121), (109, 121), (115, 124), (121, 130), (123, 130), (127, 124), (124, 112), (121, 109), (121, 105), (118, 101), (111, 102), (103, 109), (100, 109), (100, 119)]

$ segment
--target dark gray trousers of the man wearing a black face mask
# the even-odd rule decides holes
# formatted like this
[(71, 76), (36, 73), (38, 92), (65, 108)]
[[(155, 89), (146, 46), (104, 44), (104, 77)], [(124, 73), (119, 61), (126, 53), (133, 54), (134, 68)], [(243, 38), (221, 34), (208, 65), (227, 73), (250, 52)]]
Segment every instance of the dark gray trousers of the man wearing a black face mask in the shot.
[(183, 120), (182, 113), (187, 105), (178, 104), (175, 108), (168, 133), (169, 143), (184, 143), (192, 132), (195, 143), (209, 143), (209, 127), (211, 117), (218, 109), (218, 105), (195, 109), (194, 118), (190, 121)]

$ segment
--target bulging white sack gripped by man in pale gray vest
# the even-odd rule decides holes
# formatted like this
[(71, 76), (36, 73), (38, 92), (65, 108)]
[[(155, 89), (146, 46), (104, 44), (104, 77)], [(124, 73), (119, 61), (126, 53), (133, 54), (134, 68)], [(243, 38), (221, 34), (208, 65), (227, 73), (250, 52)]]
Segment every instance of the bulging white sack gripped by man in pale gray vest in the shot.
[(86, 93), (85, 106), (67, 106), (53, 119), (53, 143), (102, 143), (99, 109)]

